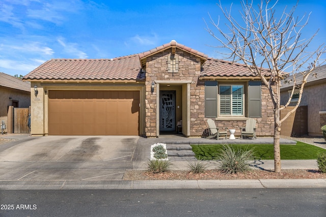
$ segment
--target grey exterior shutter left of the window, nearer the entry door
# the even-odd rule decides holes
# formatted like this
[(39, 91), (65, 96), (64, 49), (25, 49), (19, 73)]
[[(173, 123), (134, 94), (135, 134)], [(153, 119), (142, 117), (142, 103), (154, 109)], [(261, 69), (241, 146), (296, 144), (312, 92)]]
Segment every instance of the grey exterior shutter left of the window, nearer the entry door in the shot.
[(205, 81), (205, 117), (218, 116), (218, 82)]

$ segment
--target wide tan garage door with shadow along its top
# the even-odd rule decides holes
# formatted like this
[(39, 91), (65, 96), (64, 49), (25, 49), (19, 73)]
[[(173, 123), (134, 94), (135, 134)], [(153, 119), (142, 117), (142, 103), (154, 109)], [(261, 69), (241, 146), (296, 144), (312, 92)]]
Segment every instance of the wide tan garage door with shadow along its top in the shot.
[(139, 91), (49, 90), (49, 135), (139, 135)]

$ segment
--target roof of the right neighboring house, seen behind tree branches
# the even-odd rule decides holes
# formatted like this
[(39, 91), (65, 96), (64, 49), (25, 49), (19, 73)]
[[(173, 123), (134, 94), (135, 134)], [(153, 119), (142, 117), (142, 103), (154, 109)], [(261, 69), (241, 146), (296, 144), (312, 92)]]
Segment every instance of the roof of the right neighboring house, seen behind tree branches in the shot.
[[(297, 73), (295, 75), (295, 79), (297, 81), (297, 84), (301, 84), (302, 79), (303, 79), (303, 75), (301, 73)], [(306, 85), (309, 85), (310, 83), (321, 81), (323, 79), (325, 79), (324, 82), (326, 82), (326, 65), (317, 67), (314, 71), (312, 71), (311, 74), (307, 78)], [(293, 80), (293, 75), (290, 75), (286, 80), (287, 81)], [(293, 87), (293, 82), (290, 82), (290, 83), (282, 82), (281, 89), (288, 89), (290, 87)]]

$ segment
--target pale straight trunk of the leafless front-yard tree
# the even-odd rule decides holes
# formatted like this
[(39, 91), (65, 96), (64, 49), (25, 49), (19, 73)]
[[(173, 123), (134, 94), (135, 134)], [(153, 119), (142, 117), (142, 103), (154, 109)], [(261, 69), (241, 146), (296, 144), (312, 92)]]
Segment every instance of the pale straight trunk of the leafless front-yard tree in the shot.
[(276, 173), (281, 172), (281, 150), (280, 150), (280, 135), (281, 135), (281, 123), (280, 123), (280, 109), (274, 111), (275, 129), (274, 129), (274, 171)]

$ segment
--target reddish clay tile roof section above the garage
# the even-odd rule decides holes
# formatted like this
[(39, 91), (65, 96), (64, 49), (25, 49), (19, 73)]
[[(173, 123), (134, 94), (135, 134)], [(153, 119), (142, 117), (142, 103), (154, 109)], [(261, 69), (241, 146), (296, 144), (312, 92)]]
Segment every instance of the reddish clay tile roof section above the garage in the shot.
[(51, 59), (24, 76), (31, 80), (145, 80), (138, 54), (113, 59)]

